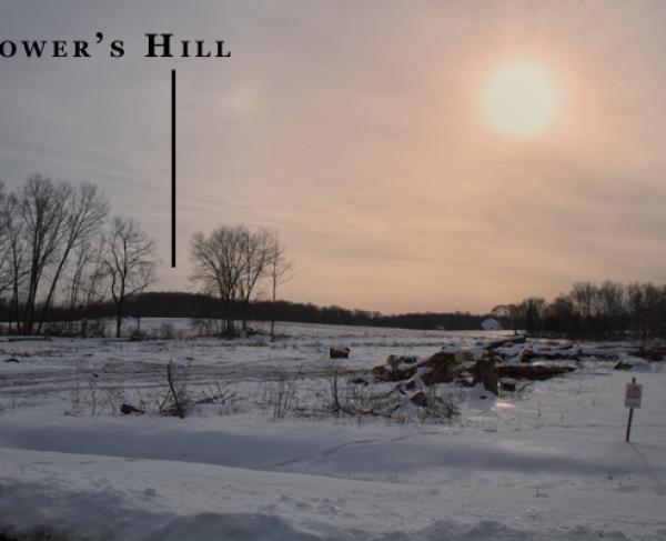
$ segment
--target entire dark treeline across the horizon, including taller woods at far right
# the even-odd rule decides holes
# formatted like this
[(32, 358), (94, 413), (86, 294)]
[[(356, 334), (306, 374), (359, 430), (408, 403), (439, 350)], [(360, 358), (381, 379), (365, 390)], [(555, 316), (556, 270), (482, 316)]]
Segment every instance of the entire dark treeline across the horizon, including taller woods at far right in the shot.
[[(223, 320), (228, 307), (216, 297), (188, 292), (144, 292), (127, 301), (125, 315), (133, 318), (190, 318)], [(250, 321), (393, 327), (415, 330), (478, 330), (486, 318), (504, 329), (526, 331), (552, 338), (653, 339), (666, 338), (666, 285), (652, 283), (576, 283), (568, 293), (552, 302), (532, 297), (514, 304), (501, 304), (488, 314), (470, 312), (420, 312), (385, 315), (336, 305), (276, 300), (238, 301), (235, 313), (246, 311)], [(48, 320), (53, 322), (115, 317), (115, 305), (102, 301), (72, 310), (52, 305)], [(0, 320), (10, 321), (12, 305), (0, 299)]]

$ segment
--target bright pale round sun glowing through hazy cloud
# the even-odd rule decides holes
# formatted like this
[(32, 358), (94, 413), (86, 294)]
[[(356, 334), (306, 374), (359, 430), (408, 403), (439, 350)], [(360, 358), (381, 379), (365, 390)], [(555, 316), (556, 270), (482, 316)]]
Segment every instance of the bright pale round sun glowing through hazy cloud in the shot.
[(488, 78), (483, 108), (492, 127), (507, 136), (533, 137), (555, 120), (558, 96), (548, 71), (535, 62), (508, 62)]

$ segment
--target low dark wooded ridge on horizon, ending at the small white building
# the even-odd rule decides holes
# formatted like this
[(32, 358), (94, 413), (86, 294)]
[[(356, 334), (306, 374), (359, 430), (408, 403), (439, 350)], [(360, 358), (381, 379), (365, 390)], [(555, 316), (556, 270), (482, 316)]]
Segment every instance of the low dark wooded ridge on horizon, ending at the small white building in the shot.
[[(241, 303), (234, 311), (240, 313)], [(317, 307), (312, 303), (300, 303), (278, 300), (252, 301), (248, 308), (250, 321), (289, 321), (297, 323), (325, 323), (345, 325), (396, 327), (402, 329), (447, 329), (478, 330), (487, 315), (468, 312), (453, 313), (404, 313), (383, 315), (365, 310), (349, 310), (341, 307)], [(88, 318), (114, 317), (112, 303), (103, 302), (87, 308)], [(191, 319), (223, 319), (224, 309), (220, 300), (201, 293), (186, 292), (147, 292), (129, 299), (125, 314), (134, 318), (191, 318)], [(0, 304), (0, 318), (9, 315), (8, 307)], [(73, 314), (80, 319), (82, 314)], [(70, 309), (52, 307), (51, 321), (67, 321), (72, 318)]]

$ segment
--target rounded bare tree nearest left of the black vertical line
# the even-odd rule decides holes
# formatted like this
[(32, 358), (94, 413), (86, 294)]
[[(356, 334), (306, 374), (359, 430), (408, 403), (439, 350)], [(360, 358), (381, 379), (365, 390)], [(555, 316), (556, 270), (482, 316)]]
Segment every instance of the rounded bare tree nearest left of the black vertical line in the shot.
[(107, 239), (104, 267), (115, 305), (115, 337), (120, 337), (125, 302), (157, 280), (157, 243), (133, 218), (115, 217)]

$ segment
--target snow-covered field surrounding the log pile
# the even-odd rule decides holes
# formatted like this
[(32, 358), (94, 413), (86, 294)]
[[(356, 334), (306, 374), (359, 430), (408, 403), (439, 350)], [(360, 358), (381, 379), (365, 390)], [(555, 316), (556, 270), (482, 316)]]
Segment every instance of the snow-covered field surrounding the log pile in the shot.
[[(575, 372), (497, 399), (444, 384), (460, 415), (400, 422), (319, 413), (330, 347), (351, 348), (346, 391), (389, 354), (503, 333), (280, 324), (275, 342), (229, 342), (172, 325), (176, 340), (0, 338), (0, 539), (666, 539), (666, 362), (627, 344), (576, 344)], [(151, 413), (169, 361), (192, 398), (235, 394)], [(625, 443), (632, 377), (644, 401)]]

